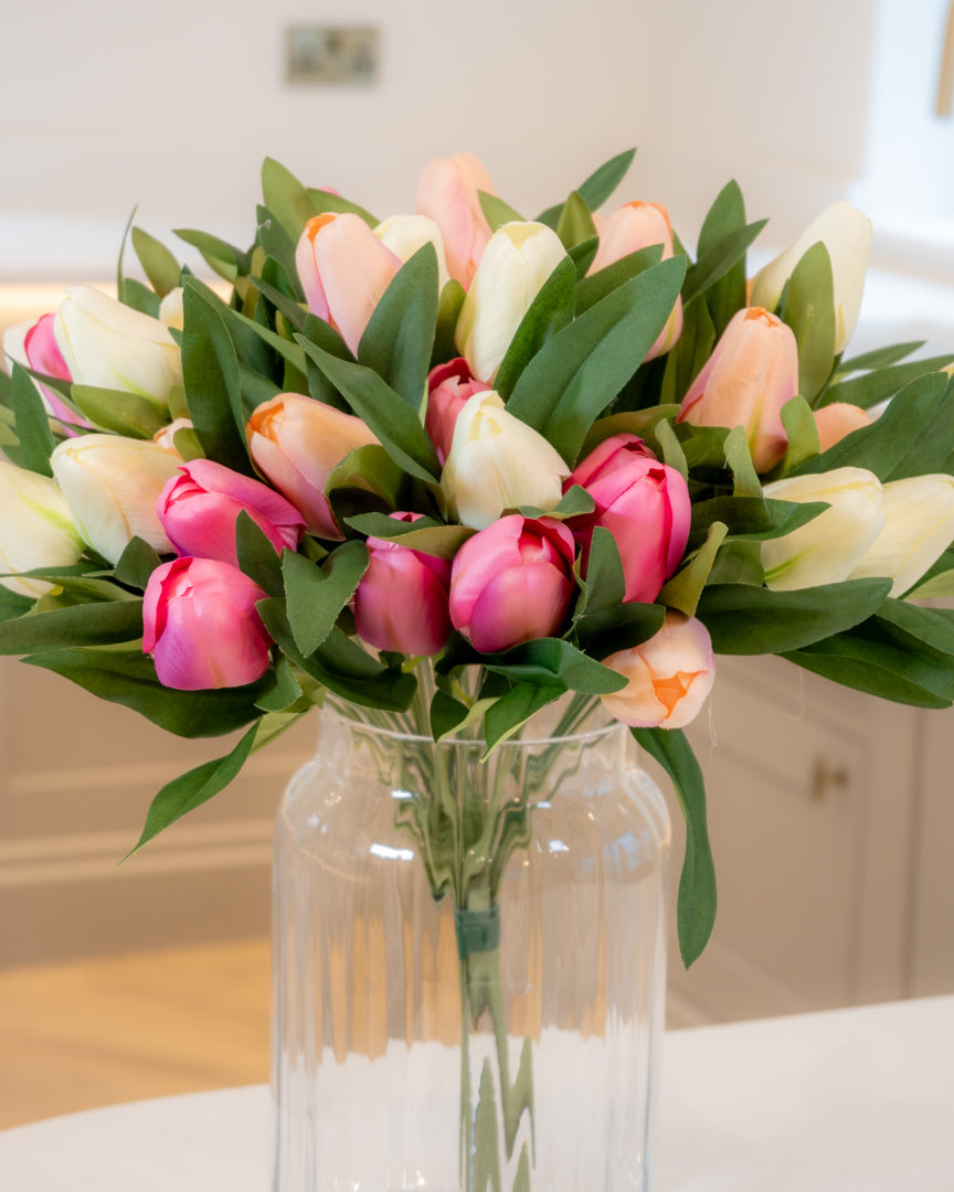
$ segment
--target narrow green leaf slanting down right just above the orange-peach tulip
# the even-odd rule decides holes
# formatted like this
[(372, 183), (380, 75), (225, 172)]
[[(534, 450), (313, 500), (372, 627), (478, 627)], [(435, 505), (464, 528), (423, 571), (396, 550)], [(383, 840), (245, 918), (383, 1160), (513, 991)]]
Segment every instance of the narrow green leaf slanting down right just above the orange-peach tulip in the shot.
[(298, 342), (335, 389), (343, 393), (405, 472), (422, 480), (435, 480), (440, 464), (420, 417), (373, 370), (339, 360), (303, 336)]

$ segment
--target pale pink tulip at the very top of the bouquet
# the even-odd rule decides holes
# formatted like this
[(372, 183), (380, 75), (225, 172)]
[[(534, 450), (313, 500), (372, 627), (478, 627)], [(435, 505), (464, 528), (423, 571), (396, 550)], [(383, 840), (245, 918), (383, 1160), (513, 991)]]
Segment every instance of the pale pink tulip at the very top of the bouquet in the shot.
[(447, 271), (466, 290), (490, 240), (477, 192), (496, 194), (487, 170), (470, 153), (436, 157), (417, 184), (417, 212), (440, 228)]

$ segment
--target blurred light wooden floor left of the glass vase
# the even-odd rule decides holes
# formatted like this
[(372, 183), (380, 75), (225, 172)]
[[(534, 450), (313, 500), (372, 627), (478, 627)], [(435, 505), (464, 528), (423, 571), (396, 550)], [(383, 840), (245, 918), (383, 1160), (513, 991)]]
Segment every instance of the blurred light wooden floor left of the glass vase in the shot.
[(0, 1129), (268, 1079), (267, 939), (0, 968)]

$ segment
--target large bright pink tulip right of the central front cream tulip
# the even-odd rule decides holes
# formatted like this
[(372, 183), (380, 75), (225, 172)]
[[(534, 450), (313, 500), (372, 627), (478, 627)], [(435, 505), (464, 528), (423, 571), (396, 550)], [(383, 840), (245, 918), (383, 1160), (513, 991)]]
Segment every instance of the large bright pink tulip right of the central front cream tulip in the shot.
[[(689, 538), (692, 504), (682, 476), (661, 464), (636, 435), (613, 435), (577, 464), (566, 486), (582, 485), (596, 503), (572, 519), (589, 558), (593, 530), (602, 526), (619, 548), (626, 601), (653, 601), (679, 566)], [(586, 571), (584, 571), (586, 575)]]

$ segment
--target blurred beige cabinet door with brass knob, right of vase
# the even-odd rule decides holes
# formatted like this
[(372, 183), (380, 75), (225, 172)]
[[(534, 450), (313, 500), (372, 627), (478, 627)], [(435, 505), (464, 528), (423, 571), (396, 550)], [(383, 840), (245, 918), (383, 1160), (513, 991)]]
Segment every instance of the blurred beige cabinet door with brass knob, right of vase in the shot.
[(719, 659), (708, 713), (689, 730), (706, 776), (719, 911), (689, 973), (674, 956), (676, 1019), (904, 992), (913, 724), (912, 709), (780, 659)]

